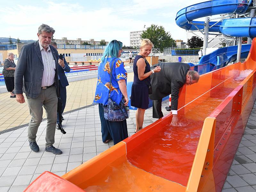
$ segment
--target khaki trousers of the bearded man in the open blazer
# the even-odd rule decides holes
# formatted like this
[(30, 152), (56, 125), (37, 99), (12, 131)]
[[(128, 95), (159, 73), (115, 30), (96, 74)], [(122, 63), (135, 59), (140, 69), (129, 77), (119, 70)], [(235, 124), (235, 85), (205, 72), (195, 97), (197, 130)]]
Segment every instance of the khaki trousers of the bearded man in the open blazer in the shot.
[(45, 146), (49, 147), (54, 143), (54, 135), (57, 119), (57, 103), (58, 98), (56, 88), (53, 86), (48, 89), (42, 89), (40, 94), (32, 99), (27, 97), (28, 108), (31, 115), (31, 120), (28, 125), (28, 140), (36, 141), (36, 133), (43, 119), (43, 107), (47, 116), (47, 127), (45, 136)]

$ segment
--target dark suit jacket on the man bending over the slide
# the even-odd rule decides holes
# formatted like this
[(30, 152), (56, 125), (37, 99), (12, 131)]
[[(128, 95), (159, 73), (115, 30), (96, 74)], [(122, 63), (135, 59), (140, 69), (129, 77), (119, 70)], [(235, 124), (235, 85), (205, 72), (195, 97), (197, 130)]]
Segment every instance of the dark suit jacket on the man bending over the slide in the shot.
[(186, 75), (189, 70), (187, 63), (158, 63), (151, 67), (161, 67), (161, 71), (150, 75), (153, 93), (149, 95), (151, 100), (160, 100), (172, 94), (172, 110), (178, 108), (180, 88), (186, 83)]

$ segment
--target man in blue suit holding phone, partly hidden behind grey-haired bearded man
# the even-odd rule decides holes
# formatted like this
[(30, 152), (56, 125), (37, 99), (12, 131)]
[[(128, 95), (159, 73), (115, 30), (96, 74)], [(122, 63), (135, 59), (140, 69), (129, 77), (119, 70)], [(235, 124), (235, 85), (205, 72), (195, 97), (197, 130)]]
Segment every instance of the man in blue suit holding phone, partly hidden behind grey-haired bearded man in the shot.
[[(57, 48), (57, 43), (55, 41), (51, 42), (51, 45), (55, 48)], [(58, 57), (59, 59), (59, 57)], [(62, 113), (65, 109), (66, 106), (66, 101), (67, 101), (67, 89), (66, 87), (69, 85), (68, 84), (68, 79), (67, 76), (65, 75), (65, 71), (69, 72), (70, 71), (70, 67), (68, 66), (68, 63), (63, 55), (63, 60), (59, 59), (59, 90), (60, 90), (60, 99), (62, 101), (62, 109), (61, 109), (61, 119), (63, 120), (63, 116)], [(56, 129), (60, 129), (58, 126), (59, 123), (59, 113), (57, 113), (57, 125), (56, 125)]]

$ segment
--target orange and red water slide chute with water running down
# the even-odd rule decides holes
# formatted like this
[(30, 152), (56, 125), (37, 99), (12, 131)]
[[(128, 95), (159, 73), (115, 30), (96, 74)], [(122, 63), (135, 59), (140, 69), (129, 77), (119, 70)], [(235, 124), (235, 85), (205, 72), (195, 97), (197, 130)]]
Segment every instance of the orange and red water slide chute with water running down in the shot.
[[(52, 177), (52, 192), (221, 191), (256, 98), (255, 46), (244, 63), (181, 88), (179, 126), (170, 113), (62, 177), (44, 172), (25, 191), (49, 190)], [(252, 73), (236, 81), (245, 69)]]

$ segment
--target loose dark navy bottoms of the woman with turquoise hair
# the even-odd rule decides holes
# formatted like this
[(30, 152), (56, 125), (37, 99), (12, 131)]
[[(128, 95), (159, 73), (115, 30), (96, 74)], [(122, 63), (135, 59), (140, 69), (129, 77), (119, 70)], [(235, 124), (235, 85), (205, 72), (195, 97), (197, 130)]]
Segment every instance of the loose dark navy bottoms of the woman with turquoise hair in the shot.
[(102, 142), (113, 139), (114, 145), (128, 137), (126, 119), (124, 121), (108, 121), (104, 117), (103, 105), (99, 103)]

